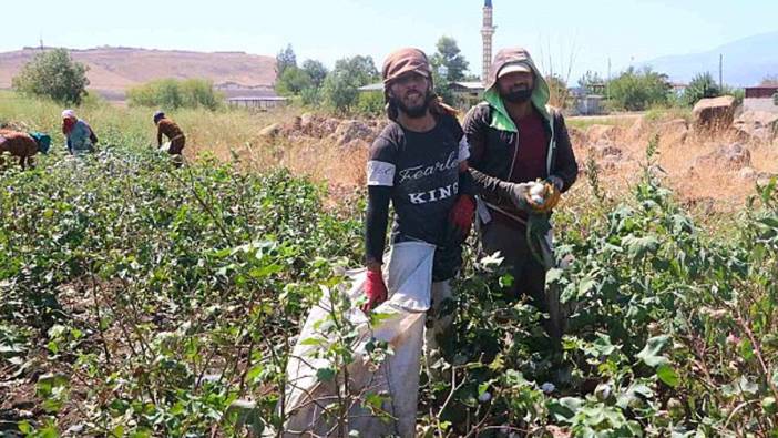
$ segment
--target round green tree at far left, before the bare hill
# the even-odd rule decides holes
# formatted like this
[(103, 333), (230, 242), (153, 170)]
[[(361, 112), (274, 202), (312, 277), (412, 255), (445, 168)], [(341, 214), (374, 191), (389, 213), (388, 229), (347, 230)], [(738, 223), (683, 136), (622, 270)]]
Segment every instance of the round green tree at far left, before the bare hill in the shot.
[(41, 52), (13, 78), (13, 89), (30, 95), (50, 98), (63, 104), (80, 104), (86, 95), (88, 67), (70, 58), (65, 49)]

